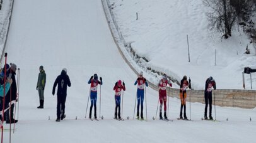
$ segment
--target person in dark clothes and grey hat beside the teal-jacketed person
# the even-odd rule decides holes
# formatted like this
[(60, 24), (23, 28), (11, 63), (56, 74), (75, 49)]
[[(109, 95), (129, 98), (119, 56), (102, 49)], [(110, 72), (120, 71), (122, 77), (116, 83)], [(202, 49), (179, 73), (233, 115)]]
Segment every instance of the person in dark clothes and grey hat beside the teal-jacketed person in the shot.
[[(15, 63), (11, 64), (11, 68), (8, 69), (8, 71), (6, 71), (6, 77), (8, 77), (8, 79), (13, 80), (13, 83), (11, 84), (11, 87), (8, 91), (8, 93), (6, 94), (5, 97), (5, 102), (4, 102), (4, 109), (9, 108), (8, 110), (6, 110), (6, 124), (12, 124), (12, 123), (16, 123), (18, 122), (18, 120), (15, 120), (13, 118), (13, 112), (14, 112), (14, 108), (15, 108), (15, 102), (16, 102), (16, 97), (17, 97), (17, 85), (16, 85), (16, 79), (15, 79), (15, 75), (16, 75), (16, 68), (17, 66), (15, 65)], [(9, 107), (9, 103), (11, 102), (11, 107)]]

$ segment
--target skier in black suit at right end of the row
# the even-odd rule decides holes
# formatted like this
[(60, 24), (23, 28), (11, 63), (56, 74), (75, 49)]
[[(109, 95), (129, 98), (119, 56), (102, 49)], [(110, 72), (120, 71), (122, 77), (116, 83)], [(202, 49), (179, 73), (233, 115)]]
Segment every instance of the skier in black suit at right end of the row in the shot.
[[(206, 107), (204, 109), (204, 119), (207, 118), (207, 107), (209, 103), (209, 119), (212, 120), (212, 88), (216, 90), (216, 83), (212, 77), (207, 78), (206, 80), (206, 88), (204, 90), (204, 100), (206, 102)], [(208, 102), (209, 101), (209, 102)]]

